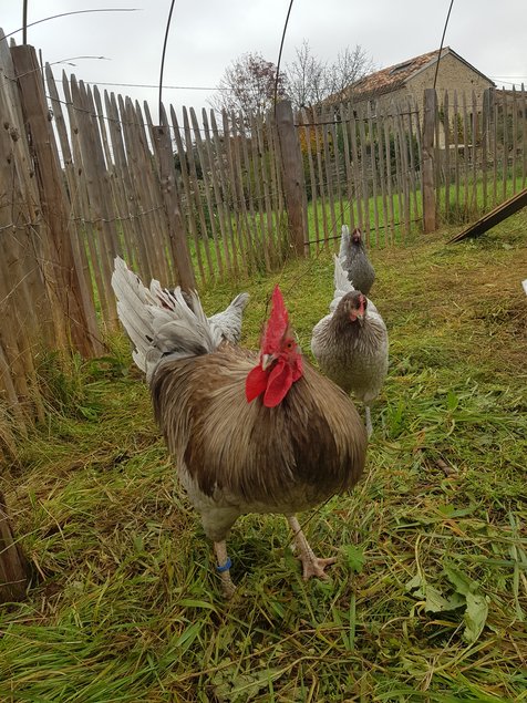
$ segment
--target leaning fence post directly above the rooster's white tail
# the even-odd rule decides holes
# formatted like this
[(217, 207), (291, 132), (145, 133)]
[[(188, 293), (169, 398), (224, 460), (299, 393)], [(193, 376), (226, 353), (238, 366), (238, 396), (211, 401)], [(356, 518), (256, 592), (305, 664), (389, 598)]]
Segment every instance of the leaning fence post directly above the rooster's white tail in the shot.
[(172, 255), (177, 271), (177, 282), (183, 290), (188, 291), (196, 288), (196, 278), (188, 252), (187, 232), (183, 226), (182, 208), (176, 193), (176, 169), (172, 151), (170, 128), (166, 115), (163, 115), (162, 121), (164, 124), (152, 128), (152, 136), (159, 164), (161, 189), (166, 211)]

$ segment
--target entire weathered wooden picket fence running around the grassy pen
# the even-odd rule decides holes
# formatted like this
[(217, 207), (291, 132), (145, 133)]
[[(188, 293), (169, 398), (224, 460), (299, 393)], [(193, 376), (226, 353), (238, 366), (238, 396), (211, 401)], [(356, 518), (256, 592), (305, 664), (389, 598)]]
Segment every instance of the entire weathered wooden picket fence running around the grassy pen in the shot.
[[(338, 247), (465, 221), (525, 187), (525, 92), (343, 104), (265, 118), (148, 106), (0, 34), (0, 445), (43, 417), (39, 355), (104, 351), (113, 259), (203, 288)], [(9, 422), (8, 422), (9, 421)]]

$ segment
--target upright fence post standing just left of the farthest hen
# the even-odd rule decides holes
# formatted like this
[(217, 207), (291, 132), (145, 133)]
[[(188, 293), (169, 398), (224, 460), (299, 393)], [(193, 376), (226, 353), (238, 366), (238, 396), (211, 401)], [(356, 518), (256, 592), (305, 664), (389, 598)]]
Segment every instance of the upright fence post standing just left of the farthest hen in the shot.
[(307, 256), (309, 254), (309, 245), (306, 244), (308, 240), (308, 217), (302, 153), (293, 124), (291, 103), (288, 100), (282, 100), (277, 104), (276, 120), (291, 244), (297, 256)]

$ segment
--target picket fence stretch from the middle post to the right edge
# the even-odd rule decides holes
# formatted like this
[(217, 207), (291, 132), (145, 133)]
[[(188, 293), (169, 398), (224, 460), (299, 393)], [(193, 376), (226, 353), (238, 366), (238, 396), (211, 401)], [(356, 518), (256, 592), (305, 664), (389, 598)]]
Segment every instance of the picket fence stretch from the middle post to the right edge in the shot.
[(333, 246), (343, 223), (362, 226), (371, 247), (418, 231), (427, 156), (431, 229), (476, 219), (526, 187), (524, 89), (488, 90), (478, 100), (430, 93), (422, 103), (324, 106), (298, 116), (311, 251)]

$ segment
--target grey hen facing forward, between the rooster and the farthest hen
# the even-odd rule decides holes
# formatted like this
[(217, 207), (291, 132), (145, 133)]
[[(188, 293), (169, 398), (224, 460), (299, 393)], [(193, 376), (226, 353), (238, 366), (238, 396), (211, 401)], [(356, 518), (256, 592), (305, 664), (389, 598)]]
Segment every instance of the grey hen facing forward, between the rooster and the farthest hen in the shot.
[(314, 325), (311, 351), (332, 381), (364, 403), (370, 436), (370, 405), (388, 372), (388, 331), (373, 302), (348, 280), (338, 257), (330, 313)]

